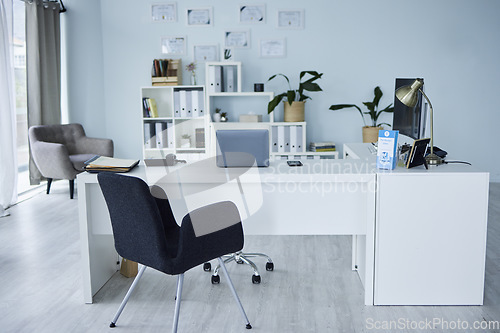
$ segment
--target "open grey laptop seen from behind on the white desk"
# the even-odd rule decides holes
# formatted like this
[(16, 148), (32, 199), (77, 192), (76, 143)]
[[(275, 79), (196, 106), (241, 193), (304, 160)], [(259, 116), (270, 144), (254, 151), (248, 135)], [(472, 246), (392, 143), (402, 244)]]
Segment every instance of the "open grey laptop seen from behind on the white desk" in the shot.
[(218, 167), (269, 166), (268, 130), (218, 130), (215, 136)]

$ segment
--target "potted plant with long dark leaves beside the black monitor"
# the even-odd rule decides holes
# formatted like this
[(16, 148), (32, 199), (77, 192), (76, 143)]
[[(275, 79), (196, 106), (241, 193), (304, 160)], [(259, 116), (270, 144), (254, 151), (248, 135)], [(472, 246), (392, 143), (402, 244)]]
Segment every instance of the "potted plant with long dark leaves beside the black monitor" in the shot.
[[(382, 125), (387, 125), (391, 126), (388, 123), (379, 123), (378, 118), (383, 112), (393, 112), (394, 107), (392, 106), (392, 103), (386, 106), (384, 109), (379, 110), (378, 108), (378, 103), (380, 102), (380, 99), (382, 98), (382, 90), (380, 89), (379, 86), (375, 87), (373, 93), (375, 94), (375, 97), (373, 97), (373, 101), (371, 102), (363, 102), (363, 104), (366, 106), (368, 111), (361, 111), (361, 108), (355, 104), (336, 104), (330, 106), (330, 110), (341, 110), (344, 108), (356, 108), (359, 111), (359, 114), (361, 115), (361, 118), (363, 119), (363, 142), (377, 142), (378, 140), (378, 131), (383, 129)], [(370, 116), (371, 122), (369, 125), (366, 124), (365, 121), (365, 114)]]

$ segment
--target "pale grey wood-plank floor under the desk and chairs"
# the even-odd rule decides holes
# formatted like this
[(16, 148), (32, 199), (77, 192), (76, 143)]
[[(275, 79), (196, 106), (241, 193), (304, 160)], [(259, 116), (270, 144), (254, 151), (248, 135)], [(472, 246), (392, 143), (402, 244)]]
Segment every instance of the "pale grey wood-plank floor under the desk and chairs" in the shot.
[[(117, 328), (108, 325), (132, 279), (117, 273), (94, 304), (83, 303), (77, 210), (67, 182), (55, 182), (50, 195), (21, 202), (0, 219), (0, 332), (169, 332), (176, 278), (152, 269)], [(266, 272), (259, 261), (262, 283), (253, 285), (248, 267), (228, 269), (255, 332), (440, 332), (446, 327), (415, 328), (426, 320), (500, 325), (500, 184), (490, 187), (488, 223), (484, 306), (364, 306), (347, 236), (247, 236), (245, 250), (269, 254), (275, 271)], [(201, 267), (186, 273), (179, 332), (247, 332), (221, 280), (212, 285)], [(375, 329), (384, 324), (407, 325)]]

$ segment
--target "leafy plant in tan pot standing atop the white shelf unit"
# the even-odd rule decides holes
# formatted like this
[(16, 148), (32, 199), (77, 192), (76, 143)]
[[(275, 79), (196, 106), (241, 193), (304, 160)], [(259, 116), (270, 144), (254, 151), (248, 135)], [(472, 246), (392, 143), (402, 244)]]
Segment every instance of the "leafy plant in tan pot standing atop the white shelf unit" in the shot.
[[(310, 78), (304, 82), (302, 79), (304, 76), (309, 75)], [(304, 103), (306, 99), (311, 97), (304, 95), (304, 90), (307, 91), (322, 91), (320, 86), (314, 81), (321, 78), (323, 73), (318, 73), (315, 71), (303, 71), (300, 72), (299, 77), (299, 88), (293, 90), (290, 85), (290, 80), (284, 74), (275, 74), (271, 76), (267, 81), (271, 81), (276, 76), (283, 76), (288, 83), (288, 90), (282, 94), (279, 94), (273, 98), (272, 101), (267, 105), (267, 112), (271, 113), (276, 106), (285, 98), (284, 110), (285, 110), (285, 121), (304, 121)]]

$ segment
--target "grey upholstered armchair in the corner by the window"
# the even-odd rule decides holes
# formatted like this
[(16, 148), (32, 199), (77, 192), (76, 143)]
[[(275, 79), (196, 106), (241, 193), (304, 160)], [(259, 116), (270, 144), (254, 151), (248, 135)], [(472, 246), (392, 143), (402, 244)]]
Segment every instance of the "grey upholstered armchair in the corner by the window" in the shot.
[(80, 124), (39, 125), (28, 131), (33, 161), (47, 178), (47, 194), (53, 179), (68, 179), (73, 199), (76, 175), (95, 155), (113, 157), (113, 141), (89, 138)]

